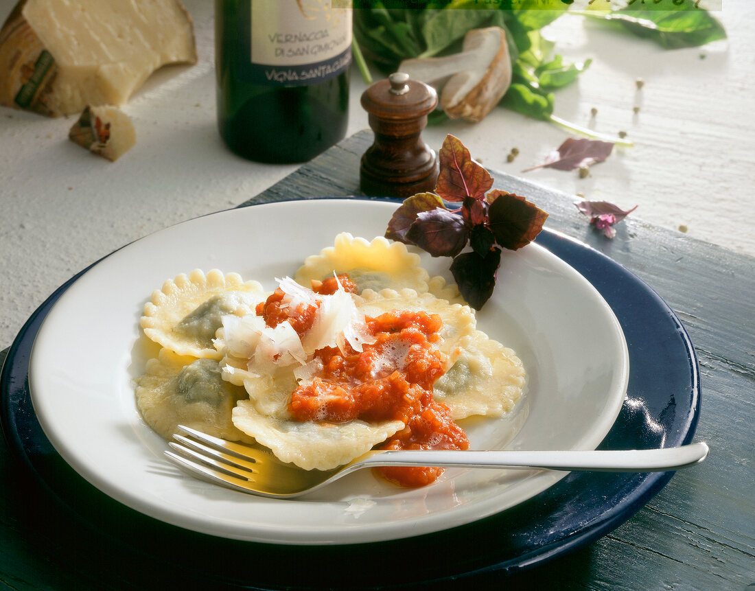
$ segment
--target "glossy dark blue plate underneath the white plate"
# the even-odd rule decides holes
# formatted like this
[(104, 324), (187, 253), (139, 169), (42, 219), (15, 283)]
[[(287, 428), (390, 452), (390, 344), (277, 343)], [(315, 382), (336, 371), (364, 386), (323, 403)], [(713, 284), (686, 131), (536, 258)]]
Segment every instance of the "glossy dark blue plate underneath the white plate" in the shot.
[[(630, 355), (627, 399), (599, 448), (646, 449), (691, 442), (701, 391), (695, 349), (680, 319), (649, 285), (599, 251), (548, 229), (536, 242), (592, 283), (624, 330)], [(140, 568), (160, 573), (173, 568), (184, 575), (190, 572), (198, 583), (236, 583), (254, 589), (473, 583), (529, 570), (593, 542), (633, 516), (673, 476), (673, 472), (571, 472), (541, 494), (495, 516), (433, 534), (348, 546), (292, 549), (221, 539), (160, 522), (82, 479), (54, 450), (32, 408), (28, 383), (32, 343), (54, 303), (87, 270), (39, 306), (8, 349), (0, 374), (2, 428), (17, 459), (66, 510), (64, 519), (72, 527), (88, 526), (102, 537), (101, 547), (115, 544), (125, 562), (139, 560)], [(124, 522), (129, 528), (123, 528)], [(187, 547), (193, 550), (186, 553)], [(291, 568), (292, 553), (298, 568)], [(204, 568), (197, 568), (196, 556), (202, 556)], [(254, 581), (247, 580), (250, 557), (254, 557)]]

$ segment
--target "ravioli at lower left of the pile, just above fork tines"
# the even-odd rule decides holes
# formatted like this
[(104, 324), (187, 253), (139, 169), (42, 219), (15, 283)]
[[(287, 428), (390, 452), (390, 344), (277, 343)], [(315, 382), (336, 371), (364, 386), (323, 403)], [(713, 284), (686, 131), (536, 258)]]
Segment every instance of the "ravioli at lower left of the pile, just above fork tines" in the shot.
[(231, 441), (253, 441), (233, 426), (231, 417), (247, 393), (222, 379), (214, 359), (178, 356), (163, 348), (136, 383), (137, 408), (165, 439), (177, 432), (177, 425), (186, 425)]

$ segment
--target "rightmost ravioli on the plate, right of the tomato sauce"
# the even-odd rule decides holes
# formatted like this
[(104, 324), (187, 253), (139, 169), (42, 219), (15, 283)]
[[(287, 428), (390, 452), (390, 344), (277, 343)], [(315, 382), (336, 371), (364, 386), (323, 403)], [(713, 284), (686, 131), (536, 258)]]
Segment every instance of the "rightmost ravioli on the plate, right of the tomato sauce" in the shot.
[(458, 357), (433, 386), (433, 397), (454, 420), (473, 414), (502, 417), (522, 398), (525, 371), (512, 349), (474, 331), (459, 340)]

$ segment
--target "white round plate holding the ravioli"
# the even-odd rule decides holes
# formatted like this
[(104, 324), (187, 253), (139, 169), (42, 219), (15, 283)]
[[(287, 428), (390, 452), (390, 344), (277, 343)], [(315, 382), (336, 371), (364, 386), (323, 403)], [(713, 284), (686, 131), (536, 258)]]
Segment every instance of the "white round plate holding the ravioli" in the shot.
[[(140, 419), (133, 377), (143, 304), (180, 272), (239, 272), (273, 289), (338, 232), (383, 235), (395, 203), (323, 199), (223, 211), (146, 236), (75, 282), (32, 349), (32, 402), (56, 450), (109, 496), (156, 519), (221, 537), (285, 544), (362, 543), (426, 534), (498, 513), (565, 472), (447, 470), (407, 490), (362, 471), (318, 494), (270, 500), (186, 476)], [(431, 274), (448, 259), (424, 255)], [(448, 276), (450, 279), (450, 276)], [(572, 267), (538, 245), (504, 251), (478, 327), (516, 350), (526, 403), (507, 420), (467, 420), (470, 448), (593, 449), (624, 400), (629, 361), (617, 319)]]

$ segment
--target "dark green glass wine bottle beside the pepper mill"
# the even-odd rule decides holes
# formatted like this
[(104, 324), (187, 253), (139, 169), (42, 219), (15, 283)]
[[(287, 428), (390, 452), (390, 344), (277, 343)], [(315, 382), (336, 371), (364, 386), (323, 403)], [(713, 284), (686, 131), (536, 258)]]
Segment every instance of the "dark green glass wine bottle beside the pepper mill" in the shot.
[(307, 162), (346, 134), (351, 11), (339, 0), (215, 0), (217, 124), (236, 154)]

